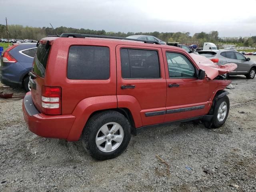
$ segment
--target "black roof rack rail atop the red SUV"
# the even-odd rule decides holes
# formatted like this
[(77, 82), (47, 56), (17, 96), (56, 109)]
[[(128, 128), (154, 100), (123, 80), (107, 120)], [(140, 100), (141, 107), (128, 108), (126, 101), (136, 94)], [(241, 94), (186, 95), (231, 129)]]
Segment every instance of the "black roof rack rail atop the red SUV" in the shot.
[(88, 34), (80, 34), (80, 33), (62, 33), (60, 35), (60, 37), (73, 37), (73, 38), (94, 37), (94, 38), (106, 38), (106, 39), (120, 39), (120, 40), (140, 41), (140, 42), (150, 43), (150, 44), (160, 44), (157, 41), (130, 39), (130, 38), (125, 38), (125, 37), (112, 37), (112, 36), (104, 36), (104, 35), (88, 35)]

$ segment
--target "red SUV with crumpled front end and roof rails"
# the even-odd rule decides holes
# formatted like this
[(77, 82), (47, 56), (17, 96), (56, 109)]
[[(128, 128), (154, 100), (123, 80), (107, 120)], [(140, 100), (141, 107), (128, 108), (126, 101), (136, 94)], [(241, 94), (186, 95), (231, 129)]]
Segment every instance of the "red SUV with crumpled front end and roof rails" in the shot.
[(24, 119), (38, 136), (80, 139), (92, 157), (106, 160), (145, 128), (191, 120), (208, 128), (224, 124), (230, 81), (222, 74), (236, 67), (146, 40), (47, 37), (38, 42)]

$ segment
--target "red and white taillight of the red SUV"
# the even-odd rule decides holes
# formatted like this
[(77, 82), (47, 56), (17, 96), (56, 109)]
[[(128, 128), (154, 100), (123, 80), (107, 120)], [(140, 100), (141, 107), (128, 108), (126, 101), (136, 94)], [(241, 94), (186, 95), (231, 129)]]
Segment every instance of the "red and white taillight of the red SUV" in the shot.
[(61, 115), (61, 87), (42, 86), (42, 112)]

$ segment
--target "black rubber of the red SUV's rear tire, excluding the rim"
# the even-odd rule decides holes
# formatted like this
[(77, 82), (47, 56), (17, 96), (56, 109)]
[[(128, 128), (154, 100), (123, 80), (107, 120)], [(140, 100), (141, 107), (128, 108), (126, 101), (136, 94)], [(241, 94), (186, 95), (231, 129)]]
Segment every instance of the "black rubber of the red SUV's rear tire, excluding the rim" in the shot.
[[(100, 128), (110, 122), (118, 123), (122, 126), (124, 136), (122, 143), (111, 152), (103, 152), (96, 145), (96, 136)], [(131, 138), (131, 125), (128, 119), (116, 111), (104, 111), (92, 116), (82, 132), (82, 145), (86, 152), (97, 160), (112, 159), (120, 155), (128, 146)]]

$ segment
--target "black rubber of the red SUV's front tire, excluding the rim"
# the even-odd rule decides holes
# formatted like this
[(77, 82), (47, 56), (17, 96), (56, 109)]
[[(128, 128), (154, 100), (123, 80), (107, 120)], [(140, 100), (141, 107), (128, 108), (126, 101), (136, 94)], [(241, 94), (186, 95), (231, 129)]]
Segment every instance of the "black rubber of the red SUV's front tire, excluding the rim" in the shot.
[[(226, 104), (227, 104), (227, 112), (226, 112), (225, 118), (223, 120), (219, 121), (218, 120), (218, 110), (220, 108), (220, 105), (223, 102), (226, 102)], [(213, 117), (212, 117), (212, 127), (213, 128), (218, 128), (218, 127), (222, 126), (225, 123), (225, 121), (226, 121), (226, 119), (228, 117), (229, 107), (230, 107), (230, 104), (229, 104), (228, 96), (225, 95), (224, 97), (219, 98), (217, 100), (217, 102), (215, 103), (215, 106), (214, 106), (214, 113), (213, 113)]]

